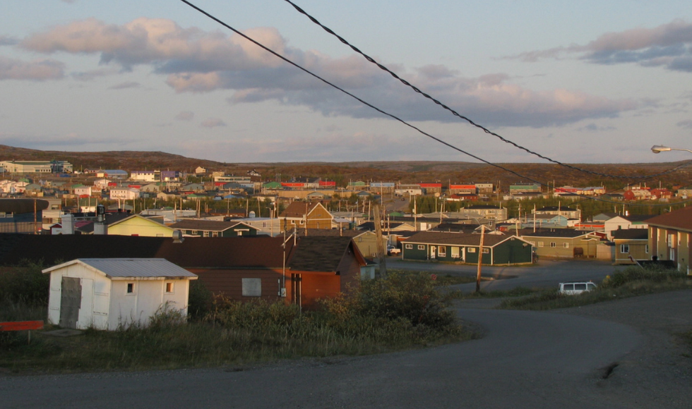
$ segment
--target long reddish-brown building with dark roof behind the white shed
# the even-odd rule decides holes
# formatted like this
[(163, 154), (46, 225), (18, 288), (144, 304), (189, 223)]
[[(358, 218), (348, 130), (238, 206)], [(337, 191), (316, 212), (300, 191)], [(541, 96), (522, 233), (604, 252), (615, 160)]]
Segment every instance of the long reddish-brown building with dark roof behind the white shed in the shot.
[(196, 274), (216, 295), (284, 300), (304, 308), (358, 286), (366, 265), (348, 237), (0, 235), (2, 266), (83, 258), (163, 258)]

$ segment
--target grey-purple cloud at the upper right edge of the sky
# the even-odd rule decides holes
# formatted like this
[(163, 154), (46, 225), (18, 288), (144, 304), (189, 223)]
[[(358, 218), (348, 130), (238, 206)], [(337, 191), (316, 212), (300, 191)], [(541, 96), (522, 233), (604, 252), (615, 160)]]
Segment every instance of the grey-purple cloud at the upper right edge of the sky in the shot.
[(534, 62), (568, 54), (597, 64), (638, 63), (640, 66), (663, 66), (672, 71), (692, 73), (692, 24), (676, 19), (656, 28), (633, 28), (609, 32), (585, 45), (527, 51), (506, 59)]

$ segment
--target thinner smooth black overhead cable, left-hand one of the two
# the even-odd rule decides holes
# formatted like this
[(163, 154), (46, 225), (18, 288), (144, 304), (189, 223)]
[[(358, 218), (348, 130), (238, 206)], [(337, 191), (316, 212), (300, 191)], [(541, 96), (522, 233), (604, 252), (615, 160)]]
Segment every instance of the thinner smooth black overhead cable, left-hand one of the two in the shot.
[[(386, 116), (389, 116), (390, 118), (393, 118), (395, 121), (399, 121), (400, 123), (403, 123), (405, 126), (408, 126), (409, 128), (412, 128), (412, 129), (414, 129), (414, 130), (417, 130), (417, 132), (422, 133), (423, 135), (427, 136), (428, 138), (431, 138), (432, 140), (436, 140), (437, 142), (440, 142), (442, 145), (445, 145), (446, 147), (450, 147), (451, 149), (454, 149), (455, 151), (458, 151), (458, 152), (460, 152), (460, 153), (463, 153), (463, 154), (465, 154), (465, 155), (467, 155), (467, 156), (469, 156), (469, 157), (472, 157), (472, 158), (474, 158), (474, 159), (476, 159), (476, 160), (478, 160), (478, 161), (482, 161), (484, 164), (488, 164), (488, 165), (490, 165), (490, 166), (494, 166), (494, 167), (496, 167), (496, 168), (498, 168), (498, 169), (501, 169), (501, 170), (503, 170), (503, 171), (506, 171), (506, 172), (508, 172), (508, 173), (512, 173), (512, 174), (515, 175), (515, 176), (519, 176), (520, 178), (526, 179), (527, 181), (531, 181), (531, 182), (533, 182), (533, 183), (537, 183), (538, 185), (542, 185), (542, 186), (545, 186), (545, 187), (549, 188), (549, 185), (547, 185), (546, 183), (542, 183), (542, 182), (536, 181), (536, 180), (534, 180), (534, 179), (532, 179), (532, 178), (530, 178), (530, 177), (528, 177), (528, 176), (524, 176), (524, 175), (522, 175), (522, 174), (520, 174), (520, 173), (517, 173), (517, 172), (511, 170), (511, 169), (507, 169), (507, 168), (504, 167), (504, 166), (501, 166), (501, 165), (499, 165), (499, 164), (494, 164), (494, 163), (492, 163), (491, 161), (487, 161), (486, 159), (482, 159), (481, 157), (477, 157), (475, 154), (472, 154), (472, 153), (470, 153), (470, 152), (466, 152), (465, 150), (463, 150), (463, 149), (461, 149), (461, 148), (459, 148), (459, 147), (455, 147), (454, 145), (451, 145), (451, 143), (448, 143), (448, 142), (446, 142), (446, 141), (444, 141), (444, 140), (441, 140), (440, 138), (437, 138), (437, 137), (435, 137), (435, 136), (433, 136), (433, 135), (431, 135), (431, 134), (429, 134), (429, 133), (426, 133), (424, 130), (421, 130), (420, 128), (417, 128), (416, 126), (413, 126), (413, 125), (411, 125), (410, 123), (407, 123), (406, 121), (404, 121), (403, 119), (399, 118), (398, 116), (395, 116), (395, 115), (393, 115), (393, 114), (389, 114), (388, 112), (383, 111), (382, 109), (379, 109), (377, 106), (374, 106), (373, 104), (370, 104), (369, 102), (364, 101), (363, 99), (361, 99), (361, 98), (357, 97), (356, 95), (354, 95), (354, 94), (348, 92), (347, 90), (342, 89), (342, 88), (339, 87), (338, 85), (335, 85), (335, 84), (333, 84), (333, 83), (330, 83), (328, 80), (326, 80), (326, 79), (322, 78), (321, 76), (319, 76), (319, 75), (317, 75), (317, 74), (315, 74), (315, 73), (309, 71), (307, 68), (304, 68), (304, 67), (300, 66), (299, 64), (294, 63), (294, 62), (291, 61), (290, 59), (287, 59), (285, 56), (282, 56), (282, 55), (278, 54), (276, 51), (273, 51), (272, 49), (266, 47), (264, 44), (261, 44), (260, 42), (256, 41), (255, 39), (253, 39), (253, 38), (251, 38), (251, 37), (249, 37), (249, 36), (243, 34), (243, 33), (240, 32), (239, 30), (233, 28), (231, 25), (228, 25), (227, 23), (223, 22), (223, 21), (220, 20), (219, 18), (213, 16), (212, 14), (208, 13), (207, 11), (204, 11), (202, 8), (199, 8), (198, 6), (192, 4), (191, 2), (189, 2), (189, 1), (187, 1), (187, 0), (180, 0), (180, 1), (182, 1), (184, 4), (187, 4), (187, 5), (190, 6), (191, 8), (194, 8), (196, 11), (202, 13), (203, 15), (207, 16), (208, 18), (214, 20), (215, 22), (219, 23), (220, 25), (223, 25), (225, 28), (227, 28), (227, 29), (231, 30), (232, 32), (236, 33), (237, 35), (243, 37), (244, 39), (248, 40), (249, 42), (255, 44), (257, 47), (260, 47), (261, 49), (264, 49), (265, 51), (269, 52), (270, 54), (273, 54), (274, 56), (277, 56), (279, 59), (282, 59), (283, 61), (285, 61), (285, 62), (287, 62), (287, 63), (290, 63), (292, 66), (298, 68), (299, 70), (303, 71), (304, 73), (307, 73), (307, 74), (311, 75), (312, 77), (314, 77), (314, 78), (316, 78), (316, 79), (322, 81), (322, 82), (325, 83), (326, 85), (329, 85), (330, 87), (333, 87), (333, 88), (335, 88), (336, 90), (339, 90), (339, 91), (343, 92), (344, 94), (347, 94), (349, 97), (352, 97), (353, 99), (356, 99), (356, 100), (357, 100), (358, 102), (360, 102), (361, 104), (364, 104), (364, 105), (366, 105), (366, 106), (369, 106), (370, 108), (372, 108), (372, 109), (378, 111), (379, 113), (381, 113), (381, 114), (383, 114), (383, 115), (386, 115)], [(603, 201), (603, 202), (611, 202), (611, 201), (608, 201), (608, 200), (601, 200), (601, 201)], [(612, 202), (612, 203), (620, 203), (620, 202)]]

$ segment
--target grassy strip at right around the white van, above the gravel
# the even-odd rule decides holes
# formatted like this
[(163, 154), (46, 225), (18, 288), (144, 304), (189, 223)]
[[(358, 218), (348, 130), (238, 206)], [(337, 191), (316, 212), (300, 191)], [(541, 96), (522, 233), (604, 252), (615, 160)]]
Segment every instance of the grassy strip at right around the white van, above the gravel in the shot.
[(692, 288), (692, 280), (676, 270), (628, 267), (607, 276), (595, 291), (563, 295), (557, 289), (551, 289), (522, 298), (503, 300), (499, 307), (512, 310), (554, 310), (684, 288)]

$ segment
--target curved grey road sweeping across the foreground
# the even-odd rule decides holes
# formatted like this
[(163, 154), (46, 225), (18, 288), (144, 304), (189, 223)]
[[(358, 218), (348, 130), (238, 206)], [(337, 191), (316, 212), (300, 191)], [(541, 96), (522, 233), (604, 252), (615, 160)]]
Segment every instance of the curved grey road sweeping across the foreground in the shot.
[(458, 310), (484, 337), (362, 358), (232, 370), (0, 377), (2, 408), (626, 408), (602, 368), (643, 342), (573, 315)]

